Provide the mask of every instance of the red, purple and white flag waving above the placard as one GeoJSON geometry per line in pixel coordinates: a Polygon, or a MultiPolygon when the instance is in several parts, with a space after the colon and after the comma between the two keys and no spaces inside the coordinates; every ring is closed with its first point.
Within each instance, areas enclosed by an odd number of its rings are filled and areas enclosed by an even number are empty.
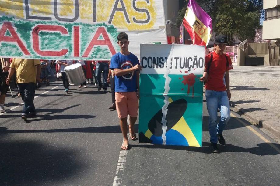
{"type": "Polygon", "coordinates": [[[195,0],[189,1],[183,24],[193,44],[208,45],[212,34],[212,19],[195,0]]]}

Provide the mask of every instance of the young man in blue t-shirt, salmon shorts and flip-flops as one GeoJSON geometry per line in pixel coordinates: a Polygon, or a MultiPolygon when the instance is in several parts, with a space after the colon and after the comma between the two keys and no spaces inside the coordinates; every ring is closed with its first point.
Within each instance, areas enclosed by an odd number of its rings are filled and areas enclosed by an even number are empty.
{"type": "Polygon", "coordinates": [[[128,150],[127,116],[129,115],[129,135],[132,140],[135,140],[134,123],[139,107],[139,70],[142,67],[137,56],[128,51],[129,41],[126,33],[121,32],[117,36],[117,43],[121,51],[112,56],[110,69],[114,70],[115,74],[116,108],[124,136],[121,150],[128,150]]]}

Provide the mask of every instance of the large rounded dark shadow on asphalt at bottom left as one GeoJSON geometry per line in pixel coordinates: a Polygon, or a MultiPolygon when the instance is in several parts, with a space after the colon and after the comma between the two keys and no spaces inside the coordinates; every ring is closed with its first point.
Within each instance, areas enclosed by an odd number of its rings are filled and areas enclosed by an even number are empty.
{"type": "Polygon", "coordinates": [[[0,185],[41,185],[65,181],[88,165],[76,158],[78,150],[38,141],[0,142],[0,185]]]}

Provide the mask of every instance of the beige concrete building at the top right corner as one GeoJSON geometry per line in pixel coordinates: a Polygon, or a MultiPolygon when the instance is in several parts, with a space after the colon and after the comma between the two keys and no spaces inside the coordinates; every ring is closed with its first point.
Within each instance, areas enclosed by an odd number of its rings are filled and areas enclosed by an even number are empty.
{"type": "Polygon", "coordinates": [[[263,40],[277,40],[268,46],[265,56],[268,65],[280,65],[280,0],[264,0],[265,20],[263,22],[263,40]]]}

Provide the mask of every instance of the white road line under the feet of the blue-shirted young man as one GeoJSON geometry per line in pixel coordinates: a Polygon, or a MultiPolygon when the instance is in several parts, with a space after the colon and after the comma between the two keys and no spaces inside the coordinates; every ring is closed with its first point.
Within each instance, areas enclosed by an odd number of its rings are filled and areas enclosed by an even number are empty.
{"type": "MultiPolygon", "coordinates": [[[[129,133],[128,133],[128,135],[129,135],[129,133]]],[[[128,137],[128,142],[129,142],[129,137],[128,137]]],[[[123,140],[122,144],[124,144],[124,140],[123,140]]],[[[119,159],[118,159],[116,176],[114,178],[113,186],[121,185],[122,175],[124,172],[124,166],[125,166],[125,162],[126,162],[126,156],[127,156],[127,150],[121,150],[119,159]]]]}

